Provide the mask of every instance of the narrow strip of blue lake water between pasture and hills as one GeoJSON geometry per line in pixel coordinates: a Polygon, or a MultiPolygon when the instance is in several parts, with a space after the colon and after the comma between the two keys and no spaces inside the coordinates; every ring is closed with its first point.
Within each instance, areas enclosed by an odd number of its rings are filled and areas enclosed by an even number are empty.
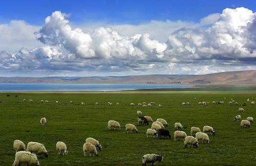
{"type": "Polygon", "coordinates": [[[0,91],[120,91],[155,88],[188,88],[183,84],[0,84],[0,91]]]}

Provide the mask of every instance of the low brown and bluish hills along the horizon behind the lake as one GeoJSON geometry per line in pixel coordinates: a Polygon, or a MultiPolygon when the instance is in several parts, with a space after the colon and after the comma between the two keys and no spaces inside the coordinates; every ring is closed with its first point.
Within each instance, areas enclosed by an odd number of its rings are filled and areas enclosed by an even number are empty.
{"type": "Polygon", "coordinates": [[[0,77],[0,83],[160,83],[160,84],[256,84],[256,70],[207,75],[140,75],[106,77],[0,77]]]}

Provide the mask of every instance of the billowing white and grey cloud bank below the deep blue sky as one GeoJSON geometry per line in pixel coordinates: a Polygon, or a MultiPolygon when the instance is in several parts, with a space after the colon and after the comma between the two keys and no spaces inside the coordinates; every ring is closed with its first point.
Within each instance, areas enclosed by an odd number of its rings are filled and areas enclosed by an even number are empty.
{"type": "Polygon", "coordinates": [[[1,51],[2,74],[207,74],[256,69],[256,13],[243,7],[224,9],[221,14],[210,14],[198,23],[151,21],[139,26],[101,27],[91,32],[73,28],[68,15],[55,11],[41,28],[21,21],[0,25],[0,30],[0,36],[5,33],[1,41],[18,40],[20,36],[40,41],[34,49],[25,49],[25,45],[15,53],[1,51]],[[4,32],[8,26],[19,29],[17,38],[4,32]],[[27,27],[33,34],[26,33],[27,27]],[[159,34],[161,40],[152,37],[154,28],[157,33],[153,36],[159,34]],[[166,29],[172,33],[167,35],[166,29]],[[132,34],[139,30],[147,33],[132,34]]]}

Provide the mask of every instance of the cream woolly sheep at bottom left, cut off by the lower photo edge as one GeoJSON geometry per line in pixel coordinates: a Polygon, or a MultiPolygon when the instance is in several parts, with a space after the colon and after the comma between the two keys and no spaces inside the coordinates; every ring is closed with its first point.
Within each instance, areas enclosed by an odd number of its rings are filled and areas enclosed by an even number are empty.
{"type": "Polygon", "coordinates": [[[19,151],[15,154],[15,160],[12,165],[18,166],[22,163],[26,163],[27,165],[40,166],[39,161],[34,153],[19,151]]]}

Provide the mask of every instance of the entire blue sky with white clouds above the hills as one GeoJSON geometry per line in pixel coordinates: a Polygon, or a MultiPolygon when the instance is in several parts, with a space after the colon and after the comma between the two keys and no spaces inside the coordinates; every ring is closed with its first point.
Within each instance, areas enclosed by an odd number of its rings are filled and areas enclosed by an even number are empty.
{"type": "Polygon", "coordinates": [[[0,77],[256,69],[255,1],[3,1],[0,77]]]}

